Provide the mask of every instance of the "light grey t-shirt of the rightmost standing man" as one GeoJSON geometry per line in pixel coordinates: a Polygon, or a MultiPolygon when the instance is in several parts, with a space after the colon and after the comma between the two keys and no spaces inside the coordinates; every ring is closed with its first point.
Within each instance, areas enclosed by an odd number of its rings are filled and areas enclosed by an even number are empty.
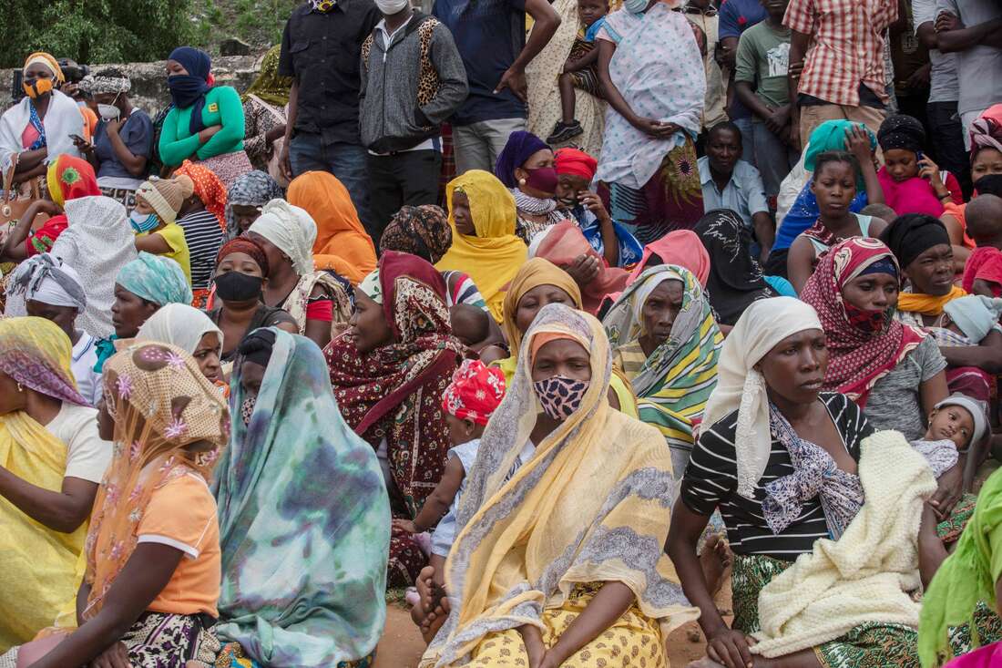
{"type": "MultiPolygon", "coordinates": [[[[997,0],[937,0],[936,13],[949,12],[972,27],[1002,17],[997,0]]],[[[919,24],[918,19],[915,21],[919,24]]],[[[1002,99],[1002,49],[979,44],[957,53],[960,113],[982,111],[1002,99]]]]}

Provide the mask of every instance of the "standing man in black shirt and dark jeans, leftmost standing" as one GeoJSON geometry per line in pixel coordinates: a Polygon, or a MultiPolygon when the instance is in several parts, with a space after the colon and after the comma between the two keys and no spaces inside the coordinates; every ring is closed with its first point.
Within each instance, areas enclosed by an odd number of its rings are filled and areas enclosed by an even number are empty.
{"type": "Polygon", "coordinates": [[[292,180],[329,172],[369,221],[366,149],[359,137],[359,55],[383,15],[373,0],[310,0],[282,35],[279,75],[293,77],[282,165],[292,180]]]}

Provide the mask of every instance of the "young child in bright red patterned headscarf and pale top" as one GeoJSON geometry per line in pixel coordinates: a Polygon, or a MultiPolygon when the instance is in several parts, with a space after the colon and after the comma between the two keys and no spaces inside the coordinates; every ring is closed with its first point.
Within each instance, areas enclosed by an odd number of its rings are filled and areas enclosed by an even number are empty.
{"type": "Polygon", "coordinates": [[[463,361],[442,396],[442,408],[452,442],[445,473],[425,499],[417,518],[413,521],[393,521],[394,528],[411,534],[434,530],[430,564],[435,568],[435,583],[439,587],[444,582],[445,558],[456,538],[456,509],[466,473],[477,458],[480,436],[491,414],[504,398],[504,372],[501,369],[486,367],[480,360],[463,361]]]}

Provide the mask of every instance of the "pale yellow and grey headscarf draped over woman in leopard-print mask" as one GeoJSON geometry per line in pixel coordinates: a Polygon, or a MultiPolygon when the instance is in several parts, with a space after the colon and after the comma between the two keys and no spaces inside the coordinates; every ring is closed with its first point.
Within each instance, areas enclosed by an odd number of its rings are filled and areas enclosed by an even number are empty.
{"type": "Polygon", "coordinates": [[[461,664],[488,631],[542,629],[541,611],[561,606],[575,583],[621,582],[665,635],[698,616],[660,550],[675,496],[671,455],[657,429],[609,406],[611,377],[595,318],[559,304],[539,312],[467,476],[445,568],[452,633],[435,639],[422,668],[461,664]],[[521,449],[512,443],[528,440],[539,412],[529,349],[548,333],[589,352],[591,381],[580,408],[506,479],[521,449]]]}

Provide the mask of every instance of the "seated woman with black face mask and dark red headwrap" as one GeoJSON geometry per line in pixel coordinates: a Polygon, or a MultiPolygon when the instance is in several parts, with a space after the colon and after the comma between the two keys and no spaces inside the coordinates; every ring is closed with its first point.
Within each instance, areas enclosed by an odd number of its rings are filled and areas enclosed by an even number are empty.
{"type": "Polygon", "coordinates": [[[219,359],[226,371],[236,359],[240,341],[256,329],[277,327],[291,334],[300,333],[295,318],[261,301],[270,269],[265,250],[249,237],[226,242],[215,257],[212,283],[217,306],[208,317],[221,332],[219,359]]]}

